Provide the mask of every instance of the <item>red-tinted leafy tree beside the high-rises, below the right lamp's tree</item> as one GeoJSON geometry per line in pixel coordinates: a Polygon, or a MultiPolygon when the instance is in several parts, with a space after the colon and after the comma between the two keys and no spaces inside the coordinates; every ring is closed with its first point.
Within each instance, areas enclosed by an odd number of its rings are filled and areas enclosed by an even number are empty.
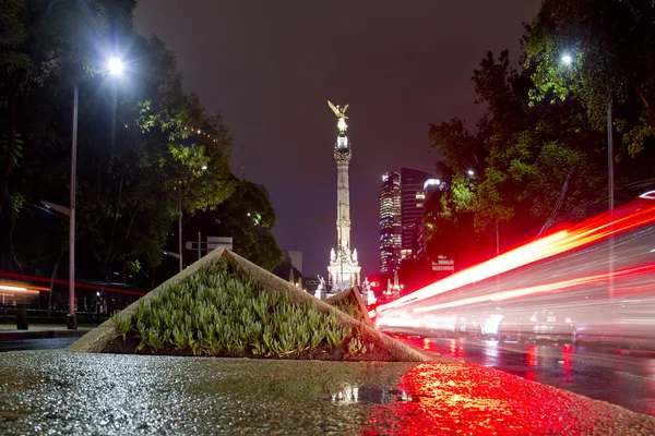
{"type": "Polygon", "coordinates": [[[497,228],[508,246],[600,201],[595,162],[603,137],[587,133],[575,101],[531,101],[531,77],[532,70],[511,66],[508,51],[488,53],[473,75],[476,102],[487,107],[477,132],[457,119],[431,126],[431,146],[443,156],[443,189],[424,218],[432,258],[465,266],[496,253],[497,228]]]}

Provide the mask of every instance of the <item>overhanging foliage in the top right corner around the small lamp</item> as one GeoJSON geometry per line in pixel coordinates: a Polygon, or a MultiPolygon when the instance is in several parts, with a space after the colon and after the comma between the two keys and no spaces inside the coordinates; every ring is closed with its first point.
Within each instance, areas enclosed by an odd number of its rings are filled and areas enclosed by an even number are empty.
{"type": "Polygon", "coordinates": [[[527,27],[532,101],[577,99],[604,130],[608,104],[631,155],[655,132],[655,3],[648,0],[547,0],[527,27]],[[562,61],[570,57],[570,65],[562,61]]]}

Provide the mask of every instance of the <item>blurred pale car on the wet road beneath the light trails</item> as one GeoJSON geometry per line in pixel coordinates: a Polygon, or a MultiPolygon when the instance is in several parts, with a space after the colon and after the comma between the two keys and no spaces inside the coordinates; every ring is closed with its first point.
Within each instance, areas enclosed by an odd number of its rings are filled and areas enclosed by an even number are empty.
{"type": "Polygon", "coordinates": [[[505,315],[498,325],[498,341],[511,339],[519,343],[538,340],[575,343],[577,332],[571,318],[543,310],[505,315]]]}

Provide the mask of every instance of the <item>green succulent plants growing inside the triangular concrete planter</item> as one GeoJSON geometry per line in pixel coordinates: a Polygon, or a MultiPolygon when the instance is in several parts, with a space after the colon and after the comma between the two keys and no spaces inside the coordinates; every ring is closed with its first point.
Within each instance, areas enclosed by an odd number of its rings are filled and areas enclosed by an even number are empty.
{"type": "Polygon", "coordinates": [[[166,349],[194,355],[252,353],[287,358],[347,343],[352,355],[372,351],[359,328],[342,326],[336,310],[320,312],[309,302],[291,303],[291,294],[266,291],[233,272],[224,259],[164,290],[131,317],[112,316],[122,335],[139,340],[136,351],[166,349]],[[348,341],[348,342],[346,342],[348,341]]]}

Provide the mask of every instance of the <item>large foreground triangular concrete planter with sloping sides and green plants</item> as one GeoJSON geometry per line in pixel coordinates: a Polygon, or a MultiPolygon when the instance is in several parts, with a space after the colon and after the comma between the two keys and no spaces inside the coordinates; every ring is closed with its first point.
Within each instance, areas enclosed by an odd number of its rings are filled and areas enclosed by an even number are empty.
{"type": "MultiPolygon", "coordinates": [[[[355,290],[357,291],[357,290],[355,290]]],[[[359,292],[336,310],[226,249],[217,249],[69,347],[78,352],[332,361],[427,362],[376,330],[359,292]]]]}

